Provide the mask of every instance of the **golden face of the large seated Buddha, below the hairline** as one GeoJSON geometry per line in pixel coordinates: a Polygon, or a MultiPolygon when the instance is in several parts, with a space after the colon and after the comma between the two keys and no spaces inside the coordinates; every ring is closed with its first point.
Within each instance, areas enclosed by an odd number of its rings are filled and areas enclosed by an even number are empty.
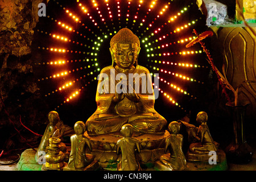
{"type": "Polygon", "coordinates": [[[113,48],[110,48],[110,53],[112,54],[112,59],[114,59],[115,64],[117,64],[119,68],[129,69],[133,67],[137,60],[140,49],[141,48],[138,47],[137,43],[115,43],[113,48]]]}

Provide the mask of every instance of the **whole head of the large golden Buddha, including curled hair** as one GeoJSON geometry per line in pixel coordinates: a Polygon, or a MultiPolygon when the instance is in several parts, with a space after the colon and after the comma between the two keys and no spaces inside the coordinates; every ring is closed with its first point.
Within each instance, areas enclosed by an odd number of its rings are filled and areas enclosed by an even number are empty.
{"type": "Polygon", "coordinates": [[[130,69],[138,65],[138,55],[141,50],[139,38],[128,28],[122,28],[110,40],[112,65],[130,69]]]}

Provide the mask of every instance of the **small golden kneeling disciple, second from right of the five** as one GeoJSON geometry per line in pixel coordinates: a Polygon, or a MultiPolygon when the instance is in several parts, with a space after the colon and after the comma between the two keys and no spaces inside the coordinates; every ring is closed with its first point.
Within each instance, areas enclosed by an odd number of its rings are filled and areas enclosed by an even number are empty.
{"type": "Polygon", "coordinates": [[[166,138],[164,152],[169,150],[170,154],[160,156],[160,162],[170,171],[183,170],[187,162],[182,151],[183,135],[179,134],[180,125],[178,122],[172,121],[168,125],[168,129],[171,135],[166,138]]]}

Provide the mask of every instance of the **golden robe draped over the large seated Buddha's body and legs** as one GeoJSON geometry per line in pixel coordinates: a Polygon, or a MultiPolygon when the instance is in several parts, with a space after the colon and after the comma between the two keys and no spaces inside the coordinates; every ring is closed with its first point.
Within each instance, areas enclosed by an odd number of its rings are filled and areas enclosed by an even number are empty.
{"type": "MultiPolygon", "coordinates": [[[[118,72],[112,65],[101,71],[96,93],[97,110],[86,121],[88,134],[119,131],[126,123],[132,125],[134,131],[141,133],[163,132],[167,121],[154,109],[155,96],[151,77],[150,79],[147,77],[147,74],[150,74],[148,69],[137,65],[133,71],[123,72],[127,80],[129,80],[129,73],[138,74],[133,80],[133,88],[140,98],[138,102],[130,101],[127,97],[120,102],[114,102],[113,98],[117,91],[115,87],[120,87],[120,80],[127,83],[125,78],[117,78],[118,73],[122,72],[118,72]],[[143,74],[147,77],[146,81],[140,77],[143,74]],[[116,78],[117,80],[115,80],[116,78]],[[137,89],[138,85],[139,90],[137,89]]],[[[127,89],[127,93],[130,93],[130,88],[127,89]]]]}

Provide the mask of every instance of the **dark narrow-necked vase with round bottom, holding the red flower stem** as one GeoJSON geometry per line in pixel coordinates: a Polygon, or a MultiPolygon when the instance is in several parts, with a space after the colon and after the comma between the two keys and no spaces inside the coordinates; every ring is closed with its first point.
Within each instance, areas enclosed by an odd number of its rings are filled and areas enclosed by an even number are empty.
{"type": "Polygon", "coordinates": [[[253,150],[245,139],[245,111],[248,106],[229,106],[233,119],[234,137],[226,147],[226,159],[231,163],[249,163],[253,156],[253,150]]]}

